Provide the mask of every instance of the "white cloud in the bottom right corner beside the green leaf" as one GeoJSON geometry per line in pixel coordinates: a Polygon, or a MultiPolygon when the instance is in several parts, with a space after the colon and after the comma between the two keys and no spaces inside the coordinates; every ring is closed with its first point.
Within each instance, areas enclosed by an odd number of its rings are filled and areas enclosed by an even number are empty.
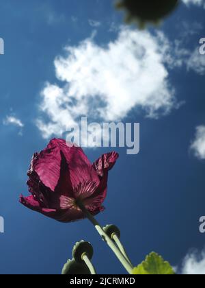
{"type": "Polygon", "coordinates": [[[182,275],[205,275],[205,251],[189,253],[182,263],[182,275]]]}

